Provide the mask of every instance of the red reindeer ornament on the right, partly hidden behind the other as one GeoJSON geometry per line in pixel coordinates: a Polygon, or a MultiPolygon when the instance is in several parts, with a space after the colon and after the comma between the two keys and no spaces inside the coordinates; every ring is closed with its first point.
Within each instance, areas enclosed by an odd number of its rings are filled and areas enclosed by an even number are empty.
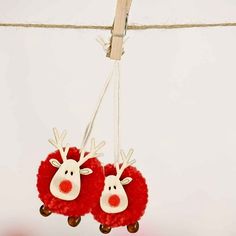
{"type": "Polygon", "coordinates": [[[127,155],[121,151],[122,164],[105,166],[105,186],[97,205],[92,209],[94,218],[101,223],[102,233],[112,228],[127,226],[131,233],[139,229],[138,221],[144,214],[148,189],[141,173],[132,165],[133,150],[127,155]]]}

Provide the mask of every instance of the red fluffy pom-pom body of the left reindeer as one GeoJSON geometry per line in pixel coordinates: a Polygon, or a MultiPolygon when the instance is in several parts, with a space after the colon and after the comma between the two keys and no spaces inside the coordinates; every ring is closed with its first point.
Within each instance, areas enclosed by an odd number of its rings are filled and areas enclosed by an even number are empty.
{"type": "MultiPolygon", "coordinates": [[[[81,168],[90,168],[93,173],[90,175],[81,175],[81,189],[79,196],[73,201],[64,201],[54,197],[50,192],[50,183],[57,172],[57,168],[53,167],[49,162],[50,159],[56,159],[62,163],[59,151],[48,155],[45,161],[41,162],[37,175],[37,188],[39,198],[51,212],[63,214],[65,216],[83,216],[91,211],[96,202],[99,201],[101,192],[104,188],[104,173],[101,163],[92,158],[85,162],[81,168]]],[[[80,159],[79,149],[70,148],[67,159],[80,159]]],[[[69,190],[69,184],[63,184],[62,189],[69,190]]]]}

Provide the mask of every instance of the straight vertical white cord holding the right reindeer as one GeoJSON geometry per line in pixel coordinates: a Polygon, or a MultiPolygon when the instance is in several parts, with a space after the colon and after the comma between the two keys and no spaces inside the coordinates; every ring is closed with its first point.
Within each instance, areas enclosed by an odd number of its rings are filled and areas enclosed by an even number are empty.
{"type": "Polygon", "coordinates": [[[120,64],[116,62],[116,77],[114,82],[114,163],[120,159],[120,64]]]}

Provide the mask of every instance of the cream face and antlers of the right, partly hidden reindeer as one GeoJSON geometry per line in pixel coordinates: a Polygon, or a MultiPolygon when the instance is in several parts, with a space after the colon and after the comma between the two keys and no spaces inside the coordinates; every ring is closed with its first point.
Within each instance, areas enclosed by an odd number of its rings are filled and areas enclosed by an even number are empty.
{"type": "Polygon", "coordinates": [[[121,168],[119,167],[119,163],[116,163],[116,176],[109,175],[105,178],[105,187],[100,198],[100,206],[106,213],[119,213],[128,207],[128,197],[123,186],[129,184],[132,178],[126,177],[120,180],[120,177],[128,166],[135,163],[135,160],[130,161],[132,154],[132,149],[127,156],[121,151],[123,159],[121,168]]]}

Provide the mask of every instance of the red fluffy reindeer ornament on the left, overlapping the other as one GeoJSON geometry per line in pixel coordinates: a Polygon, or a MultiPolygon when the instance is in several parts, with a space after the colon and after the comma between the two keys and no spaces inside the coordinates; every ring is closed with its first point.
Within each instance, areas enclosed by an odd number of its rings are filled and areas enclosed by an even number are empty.
{"type": "Polygon", "coordinates": [[[43,216],[52,212],[68,216],[68,223],[77,226],[81,216],[91,211],[99,200],[104,187],[104,173],[96,157],[105,145],[91,142],[89,153],[76,147],[63,147],[66,131],[62,134],[53,129],[55,139],[49,142],[57,149],[48,155],[38,171],[37,187],[39,198],[44,205],[40,208],[43,216]]]}

